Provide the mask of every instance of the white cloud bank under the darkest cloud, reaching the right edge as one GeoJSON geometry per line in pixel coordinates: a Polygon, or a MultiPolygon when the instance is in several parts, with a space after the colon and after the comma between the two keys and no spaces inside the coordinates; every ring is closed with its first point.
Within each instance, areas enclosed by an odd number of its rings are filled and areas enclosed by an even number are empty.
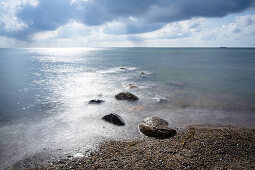
{"type": "Polygon", "coordinates": [[[167,24],[160,30],[138,34],[144,46],[173,47],[254,47],[255,14],[237,16],[229,24],[210,27],[210,19],[167,24]]]}

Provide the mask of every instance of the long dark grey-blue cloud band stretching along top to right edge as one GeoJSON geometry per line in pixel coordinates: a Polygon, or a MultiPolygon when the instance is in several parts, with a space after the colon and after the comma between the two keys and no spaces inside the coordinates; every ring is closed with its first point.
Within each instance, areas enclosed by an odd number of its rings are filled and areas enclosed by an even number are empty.
{"type": "Polygon", "coordinates": [[[91,0],[82,6],[87,25],[134,16],[144,23],[169,23],[192,17],[223,17],[254,6],[254,0],[91,0]]]}

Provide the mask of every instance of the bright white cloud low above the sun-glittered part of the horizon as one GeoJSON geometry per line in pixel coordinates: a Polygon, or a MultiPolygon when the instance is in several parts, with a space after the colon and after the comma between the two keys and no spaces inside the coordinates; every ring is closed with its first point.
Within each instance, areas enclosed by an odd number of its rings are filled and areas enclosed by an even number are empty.
{"type": "Polygon", "coordinates": [[[111,46],[119,45],[126,35],[110,35],[104,32],[103,26],[88,27],[77,21],[70,21],[55,31],[35,33],[32,36],[35,46],[111,46]]]}

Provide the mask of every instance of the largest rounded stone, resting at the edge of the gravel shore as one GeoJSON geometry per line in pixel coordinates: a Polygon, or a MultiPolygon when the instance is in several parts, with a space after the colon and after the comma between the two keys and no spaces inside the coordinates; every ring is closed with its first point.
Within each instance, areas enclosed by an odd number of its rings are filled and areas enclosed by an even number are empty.
{"type": "Polygon", "coordinates": [[[146,136],[156,138],[168,138],[176,134],[176,130],[170,128],[167,121],[156,116],[143,119],[139,130],[146,136]]]}

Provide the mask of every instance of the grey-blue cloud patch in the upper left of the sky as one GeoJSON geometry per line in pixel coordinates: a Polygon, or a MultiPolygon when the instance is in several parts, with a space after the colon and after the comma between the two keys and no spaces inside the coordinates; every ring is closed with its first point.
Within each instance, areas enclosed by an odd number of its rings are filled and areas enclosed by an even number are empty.
{"type": "Polygon", "coordinates": [[[27,27],[23,30],[5,31],[0,28],[0,35],[29,40],[29,35],[38,31],[55,30],[74,18],[77,8],[70,0],[40,0],[34,6],[25,6],[17,11],[17,18],[27,27]]]}

